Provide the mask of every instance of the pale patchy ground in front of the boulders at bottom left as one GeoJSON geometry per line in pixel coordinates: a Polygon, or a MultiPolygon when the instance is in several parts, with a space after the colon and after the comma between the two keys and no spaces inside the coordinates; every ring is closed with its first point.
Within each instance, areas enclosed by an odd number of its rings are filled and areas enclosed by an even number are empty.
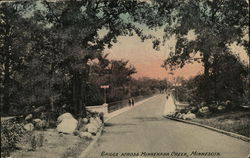
{"type": "MultiPolygon", "coordinates": [[[[12,158],[68,158],[77,157],[91,142],[74,135],[59,134],[55,129],[34,131],[18,144],[19,150],[11,154],[12,158]],[[32,136],[43,134],[43,145],[32,149],[32,136]]],[[[38,137],[39,138],[39,137],[38,137]]],[[[33,142],[34,143],[34,142],[33,142]]],[[[36,142],[39,143],[39,142],[36,142]]]]}

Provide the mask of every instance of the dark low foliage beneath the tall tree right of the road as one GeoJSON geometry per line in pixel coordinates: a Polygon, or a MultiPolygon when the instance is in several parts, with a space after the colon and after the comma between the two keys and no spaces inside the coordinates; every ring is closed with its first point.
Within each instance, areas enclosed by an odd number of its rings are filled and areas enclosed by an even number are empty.
{"type": "Polygon", "coordinates": [[[208,80],[204,74],[188,80],[177,78],[174,94],[192,106],[225,106],[227,110],[249,105],[248,67],[233,54],[221,55],[211,66],[208,80]]]}

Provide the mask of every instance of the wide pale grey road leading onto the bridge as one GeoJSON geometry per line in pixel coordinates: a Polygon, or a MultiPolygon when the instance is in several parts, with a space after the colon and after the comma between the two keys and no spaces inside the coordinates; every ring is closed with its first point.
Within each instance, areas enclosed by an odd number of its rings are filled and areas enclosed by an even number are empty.
{"type": "Polygon", "coordinates": [[[249,154],[247,142],[163,118],[168,106],[171,101],[159,95],[112,118],[87,158],[246,158],[249,154]],[[213,156],[198,156],[201,152],[213,156]]]}

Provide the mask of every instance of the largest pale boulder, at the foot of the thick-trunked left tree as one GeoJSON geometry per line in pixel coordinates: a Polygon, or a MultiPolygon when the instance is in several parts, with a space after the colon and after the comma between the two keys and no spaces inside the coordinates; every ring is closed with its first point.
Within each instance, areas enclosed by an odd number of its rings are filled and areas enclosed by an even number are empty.
{"type": "Polygon", "coordinates": [[[72,134],[77,128],[78,121],[74,118],[64,118],[61,123],[57,125],[57,131],[67,134],[72,134]]]}

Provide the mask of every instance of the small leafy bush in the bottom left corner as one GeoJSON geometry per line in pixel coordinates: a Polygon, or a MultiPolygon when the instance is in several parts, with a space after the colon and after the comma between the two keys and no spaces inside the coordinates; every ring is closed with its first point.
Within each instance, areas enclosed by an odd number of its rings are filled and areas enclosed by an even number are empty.
{"type": "Polygon", "coordinates": [[[23,124],[12,120],[1,122],[1,157],[9,156],[23,135],[23,124]]]}

